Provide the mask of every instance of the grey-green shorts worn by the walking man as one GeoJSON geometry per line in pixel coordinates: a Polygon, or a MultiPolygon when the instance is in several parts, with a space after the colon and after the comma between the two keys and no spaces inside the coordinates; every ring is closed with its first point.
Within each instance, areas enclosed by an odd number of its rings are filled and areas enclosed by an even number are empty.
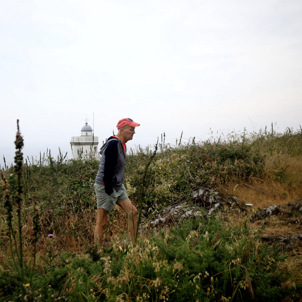
{"type": "Polygon", "coordinates": [[[108,195],[105,192],[105,185],[95,183],[94,187],[96,199],[98,201],[98,209],[105,209],[106,211],[110,212],[113,210],[116,202],[128,199],[126,188],[124,185],[122,185],[119,191],[115,191],[115,189],[113,189],[111,195],[108,195]]]}

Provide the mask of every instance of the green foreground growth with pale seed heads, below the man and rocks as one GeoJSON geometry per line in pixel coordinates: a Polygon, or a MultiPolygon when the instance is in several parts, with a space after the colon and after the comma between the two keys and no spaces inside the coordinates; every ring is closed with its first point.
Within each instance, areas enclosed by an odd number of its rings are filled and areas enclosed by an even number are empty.
{"type": "MultiPolygon", "coordinates": [[[[113,240],[103,257],[65,252],[52,266],[39,264],[42,273],[28,290],[42,288],[37,294],[46,301],[55,292],[68,294],[70,301],[276,301],[293,294],[293,288],[282,288],[288,275],[279,261],[285,256],[261,244],[257,234],[240,230],[240,225],[230,227],[219,217],[206,223],[198,218],[123,251],[113,240]]],[[[10,282],[18,284],[17,276],[10,276],[10,282]]]]}

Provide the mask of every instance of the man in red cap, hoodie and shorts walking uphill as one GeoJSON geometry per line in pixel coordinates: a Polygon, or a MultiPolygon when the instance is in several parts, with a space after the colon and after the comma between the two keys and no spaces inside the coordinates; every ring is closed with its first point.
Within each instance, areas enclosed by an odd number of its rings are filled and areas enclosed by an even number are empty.
{"type": "Polygon", "coordinates": [[[95,194],[97,197],[97,218],[95,226],[95,243],[99,252],[107,223],[107,214],[115,204],[128,215],[128,230],[132,241],[137,229],[137,209],[127,196],[124,182],[126,161],[126,143],[133,138],[135,127],[139,126],[132,119],[120,119],[117,135],[109,137],[101,147],[101,161],[95,178],[95,194]]]}

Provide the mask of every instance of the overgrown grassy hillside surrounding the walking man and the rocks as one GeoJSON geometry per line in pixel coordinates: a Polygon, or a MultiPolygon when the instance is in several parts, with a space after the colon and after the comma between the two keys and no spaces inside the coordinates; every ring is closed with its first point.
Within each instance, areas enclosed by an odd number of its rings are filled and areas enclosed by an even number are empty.
{"type": "MultiPolygon", "coordinates": [[[[302,196],[300,130],[244,130],[175,145],[164,138],[158,146],[128,152],[127,188],[142,223],[201,187],[237,196],[252,203],[253,211],[295,203],[302,196]]],[[[11,228],[21,234],[21,241],[10,248],[2,207],[0,300],[299,301],[300,245],[282,250],[259,239],[299,232],[299,225],[282,225],[283,217],[252,222],[251,231],[247,217],[199,217],[138,233],[133,246],[123,244],[128,240],[127,217],[115,207],[103,254],[97,254],[93,184],[99,160],[65,157],[60,153],[53,158],[47,150],[39,160],[28,158],[19,165],[21,174],[14,167],[1,168],[2,179],[10,185],[11,228]],[[21,247],[22,264],[16,264],[18,257],[12,255],[21,247]]]]}

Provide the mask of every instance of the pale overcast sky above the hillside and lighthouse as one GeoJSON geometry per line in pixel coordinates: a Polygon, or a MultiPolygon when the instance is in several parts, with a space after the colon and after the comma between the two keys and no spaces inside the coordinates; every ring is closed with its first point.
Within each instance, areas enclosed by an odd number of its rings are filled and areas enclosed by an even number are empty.
{"type": "Polygon", "coordinates": [[[301,0],[0,4],[0,166],[17,119],[30,157],[70,158],[93,113],[100,142],[121,118],[141,123],[128,147],[300,129],[301,0]]]}

